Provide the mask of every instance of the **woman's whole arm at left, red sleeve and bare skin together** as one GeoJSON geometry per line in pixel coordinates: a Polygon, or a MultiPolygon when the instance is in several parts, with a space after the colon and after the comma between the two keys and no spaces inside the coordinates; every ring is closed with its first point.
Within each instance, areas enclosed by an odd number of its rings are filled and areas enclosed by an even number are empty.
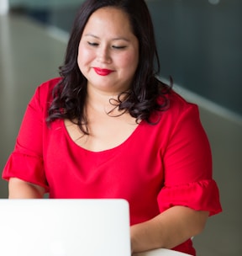
{"type": "Polygon", "coordinates": [[[9,181],[8,198],[41,198],[44,189],[34,184],[47,188],[43,135],[46,105],[50,102],[48,97],[51,92],[48,84],[39,86],[29,101],[14,150],[3,168],[2,177],[9,181]]]}

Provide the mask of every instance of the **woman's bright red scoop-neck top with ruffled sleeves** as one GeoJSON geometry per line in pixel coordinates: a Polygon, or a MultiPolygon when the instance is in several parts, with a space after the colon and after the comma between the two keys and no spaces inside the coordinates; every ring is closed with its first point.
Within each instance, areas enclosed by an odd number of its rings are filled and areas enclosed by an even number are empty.
{"type": "MultiPolygon", "coordinates": [[[[50,198],[126,199],[131,225],[172,205],[210,211],[210,215],[221,211],[197,105],[172,91],[167,95],[170,107],[160,112],[156,125],[142,121],[118,147],[91,152],[71,140],[63,120],[46,125],[51,92],[59,81],[43,83],[34,93],[3,179],[39,184],[50,198]]],[[[152,118],[157,116],[154,113],[152,118]]],[[[195,254],[191,240],[176,249],[195,254]]]]}

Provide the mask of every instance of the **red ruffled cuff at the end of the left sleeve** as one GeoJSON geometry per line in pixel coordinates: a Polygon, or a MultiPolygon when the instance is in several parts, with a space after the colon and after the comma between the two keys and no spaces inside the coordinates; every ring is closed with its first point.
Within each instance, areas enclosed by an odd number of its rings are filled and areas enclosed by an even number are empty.
{"type": "Polygon", "coordinates": [[[23,179],[26,182],[37,184],[49,191],[45,178],[44,163],[42,158],[13,152],[3,169],[2,178],[23,179]]]}

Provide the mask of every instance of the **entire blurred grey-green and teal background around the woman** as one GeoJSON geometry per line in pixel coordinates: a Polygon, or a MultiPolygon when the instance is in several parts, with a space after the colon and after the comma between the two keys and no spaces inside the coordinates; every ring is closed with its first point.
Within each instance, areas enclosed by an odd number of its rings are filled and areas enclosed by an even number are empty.
{"type": "MultiPolygon", "coordinates": [[[[35,88],[57,77],[80,0],[0,0],[0,169],[35,88]]],[[[224,212],[194,238],[197,256],[242,255],[242,1],[147,0],[160,79],[198,104],[224,212]]],[[[8,184],[0,180],[0,198],[8,184]]],[[[1,209],[0,209],[1,211],[1,209]]]]}

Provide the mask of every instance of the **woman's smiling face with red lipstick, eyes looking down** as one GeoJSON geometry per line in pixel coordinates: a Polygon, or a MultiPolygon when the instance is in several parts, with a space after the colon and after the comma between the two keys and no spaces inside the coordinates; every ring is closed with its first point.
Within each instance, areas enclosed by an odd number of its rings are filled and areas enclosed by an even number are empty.
{"type": "Polygon", "coordinates": [[[112,94],[129,89],[139,62],[139,41],[128,15],[118,8],[92,13],[80,40],[77,62],[87,87],[112,94]]]}

